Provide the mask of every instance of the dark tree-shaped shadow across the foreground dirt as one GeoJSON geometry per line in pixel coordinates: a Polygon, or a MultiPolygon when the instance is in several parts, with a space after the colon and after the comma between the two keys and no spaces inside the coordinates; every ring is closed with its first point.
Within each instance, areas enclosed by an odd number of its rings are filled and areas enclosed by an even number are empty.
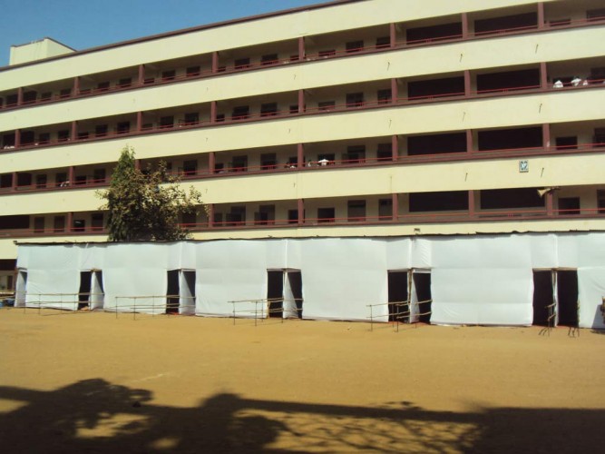
{"type": "Polygon", "coordinates": [[[582,452],[598,449],[605,410],[428,411],[248,400],[154,405],[149,390],[96,379],[53,391],[0,387],[9,452],[582,452]]]}

